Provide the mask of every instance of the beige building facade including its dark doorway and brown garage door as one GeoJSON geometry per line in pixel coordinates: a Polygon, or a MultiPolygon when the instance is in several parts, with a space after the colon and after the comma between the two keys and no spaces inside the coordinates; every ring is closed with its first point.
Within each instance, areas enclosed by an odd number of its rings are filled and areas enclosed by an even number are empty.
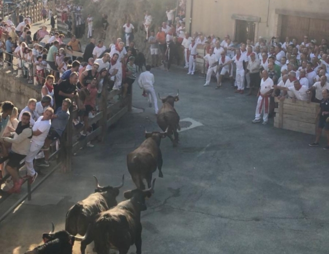
{"type": "Polygon", "coordinates": [[[238,42],[289,36],[301,43],[304,35],[329,39],[328,13],[329,0],[187,0],[186,25],[238,42]]]}

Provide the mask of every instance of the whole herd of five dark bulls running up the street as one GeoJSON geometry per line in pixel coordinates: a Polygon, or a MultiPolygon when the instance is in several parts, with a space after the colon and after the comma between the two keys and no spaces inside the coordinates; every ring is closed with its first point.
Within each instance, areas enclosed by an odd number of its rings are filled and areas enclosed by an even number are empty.
{"type": "Polygon", "coordinates": [[[152,174],[158,169],[159,177],[163,178],[161,139],[169,137],[174,147],[178,144],[179,115],[174,108],[178,96],[179,91],[176,96],[161,98],[159,95],[163,106],[158,112],[157,123],[164,132],[145,131],[145,141],[127,155],[128,171],[137,189],[124,192],[126,200],[117,203],[116,197],[124,184],[124,175],[121,184],[116,187],[102,187],[94,176],[95,192],[69,209],[65,230],[54,232],[53,224],[51,232],[42,235],[44,244],[26,254],[72,254],[75,241],[81,242],[82,254],[91,242],[94,242],[97,254],[109,254],[110,250],[127,254],[134,244],[136,253],[141,254],[140,213],[147,209],[145,199],[154,193],[155,178],[152,180],[152,174]],[[143,179],[146,180],[147,189],[143,179]],[[77,234],[83,237],[77,237],[77,234]]]}

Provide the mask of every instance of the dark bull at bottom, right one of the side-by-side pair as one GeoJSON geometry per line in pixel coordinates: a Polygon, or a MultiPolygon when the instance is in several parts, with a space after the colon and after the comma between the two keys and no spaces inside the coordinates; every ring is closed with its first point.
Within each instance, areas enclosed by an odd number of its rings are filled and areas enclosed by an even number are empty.
{"type": "Polygon", "coordinates": [[[136,253],[141,254],[140,212],[147,209],[145,198],[154,193],[154,182],[147,190],[130,190],[124,193],[127,199],[112,209],[98,214],[90,224],[81,242],[81,253],[94,241],[97,254],[108,254],[110,249],[127,254],[131,245],[136,245],[136,253]]]}

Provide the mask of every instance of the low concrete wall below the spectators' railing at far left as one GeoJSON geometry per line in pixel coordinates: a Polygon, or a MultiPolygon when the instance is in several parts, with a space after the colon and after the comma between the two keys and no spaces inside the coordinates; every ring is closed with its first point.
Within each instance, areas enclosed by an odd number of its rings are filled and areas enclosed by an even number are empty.
{"type": "Polygon", "coordinates": [[[21,110],[26,107],[27,101],[31,98],[41,100],[41,87],[27,84],[26,78],[18,78],[10,72],[0,70],[0,102],[13,102],[21,110]]]}

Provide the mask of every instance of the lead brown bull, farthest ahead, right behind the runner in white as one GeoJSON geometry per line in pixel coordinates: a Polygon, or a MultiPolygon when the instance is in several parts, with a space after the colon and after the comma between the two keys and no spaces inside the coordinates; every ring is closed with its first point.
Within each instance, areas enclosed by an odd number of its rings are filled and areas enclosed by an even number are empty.
{"type": "Polygon", "coordinates": [[[181,127],[179,126],[179,115],[174,108],[174,103],[179,101],[179,90],[176,96],[167,96],[166,98],[161,98],[159,94],[159,99],[162,101],[163,105],[160,108],[157,115],[157,123],[159,127],[164,131],[168,128],[167,136],[170,138],[174,147],[178,145],[178,132],[181,127]],[[171,135],[174,135],[174,139],[171,135]]]}

